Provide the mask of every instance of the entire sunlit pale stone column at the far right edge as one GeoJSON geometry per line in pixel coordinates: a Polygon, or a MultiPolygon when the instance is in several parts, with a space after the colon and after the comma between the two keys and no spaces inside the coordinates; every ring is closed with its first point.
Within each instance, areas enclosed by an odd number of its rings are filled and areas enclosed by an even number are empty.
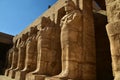
{"type": "Polygon", "coordinates": [[[106,9],[106,29],[110,40],[113,76],[114,80],[120,80],[120,0],[106,0],[106,9]]]}

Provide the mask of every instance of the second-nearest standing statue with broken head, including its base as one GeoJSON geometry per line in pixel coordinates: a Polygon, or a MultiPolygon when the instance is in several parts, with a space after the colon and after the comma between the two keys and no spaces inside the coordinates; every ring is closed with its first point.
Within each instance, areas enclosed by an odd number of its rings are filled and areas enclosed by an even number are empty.
{"type": "Polygon", "coordinates": [[[27,80],[44,80],[60,72],[60,40],[59,30],[55,23],[47,17],[41,18],[37,34],[37,68],[27,75],[27,80]],[[58,32],[59,31],[59,32],[58,32]],[[58,39],[56,39],[58,38],[58,39]]]}

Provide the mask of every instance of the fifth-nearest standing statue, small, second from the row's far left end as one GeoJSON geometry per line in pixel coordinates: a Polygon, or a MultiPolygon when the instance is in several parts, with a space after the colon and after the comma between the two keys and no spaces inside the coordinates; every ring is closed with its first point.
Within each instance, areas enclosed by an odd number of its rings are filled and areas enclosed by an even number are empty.
{"type": "Polygon", "coordinates": [[[20,43],[20,39],[15,40],[13,43],[13,47],[12,47],[13,51],[11,55],[12,63],[11,63],[11,67],[5,71],[6,76],[11,76],[10,71],[12,71],[13,69],[17,67],[19,43],[20,43]]]}

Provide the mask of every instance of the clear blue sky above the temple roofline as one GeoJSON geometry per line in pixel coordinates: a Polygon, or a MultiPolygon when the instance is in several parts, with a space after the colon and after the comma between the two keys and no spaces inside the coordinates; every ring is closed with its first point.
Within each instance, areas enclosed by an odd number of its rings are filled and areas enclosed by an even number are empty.
{"type": "Polygon", "coordinates": [[[19,34],[57,0],[0,0],[0,32],[19,34]]]}

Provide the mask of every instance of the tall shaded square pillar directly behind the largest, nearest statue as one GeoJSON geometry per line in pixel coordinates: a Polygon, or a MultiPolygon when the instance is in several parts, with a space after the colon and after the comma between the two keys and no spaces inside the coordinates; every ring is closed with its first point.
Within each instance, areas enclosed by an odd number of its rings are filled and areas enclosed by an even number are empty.
{"type": "Polygon", "coordinates": [[[83,0],[83,55],[82,80],[96,80],[95,32],[93,0],[83,0]]]}

